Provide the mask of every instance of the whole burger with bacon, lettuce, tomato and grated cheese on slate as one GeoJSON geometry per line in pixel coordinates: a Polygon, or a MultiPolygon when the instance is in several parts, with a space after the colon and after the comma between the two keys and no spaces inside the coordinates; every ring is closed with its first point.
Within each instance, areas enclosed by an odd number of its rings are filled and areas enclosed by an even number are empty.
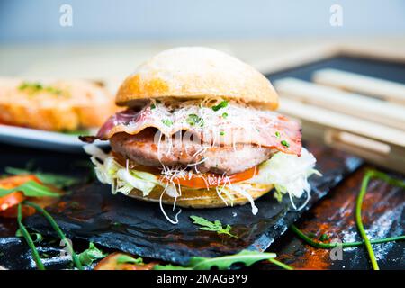
{"type": "Polygon", "coordinates": [[[310,199],[316,160],[302,148],[300,124],[274,110],[278,95],[255,68],[215,49],[182,47],[140,65],[119,88],[97,135],[106,154],[86,145],[98,179],[142,201],[212,208],[274,193],[310,199]]]}

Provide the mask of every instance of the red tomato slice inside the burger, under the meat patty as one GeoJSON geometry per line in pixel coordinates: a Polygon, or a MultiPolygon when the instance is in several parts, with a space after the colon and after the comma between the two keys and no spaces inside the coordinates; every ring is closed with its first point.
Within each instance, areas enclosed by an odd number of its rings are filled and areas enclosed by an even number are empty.
{"type": "MultiPolygon", "coordinates": [[[[232,175],[218,175],[213,173],[203,173],[203,174],[190,174],[186,175],[185,177],[178,177],[173,179],[175,184],[181,184],[185,187],[191,188],[212,188],[218,187],[223,184],[227,183],[237,183],[241,181],[245,181],[247,179],[252,178],[254,175],[257,174],[257,166],[254,166],[246,171],[235,173],[232,175]]],[[[161,177],[160,180],[162,182],[169,182],[166,177],[161,177]]]]}

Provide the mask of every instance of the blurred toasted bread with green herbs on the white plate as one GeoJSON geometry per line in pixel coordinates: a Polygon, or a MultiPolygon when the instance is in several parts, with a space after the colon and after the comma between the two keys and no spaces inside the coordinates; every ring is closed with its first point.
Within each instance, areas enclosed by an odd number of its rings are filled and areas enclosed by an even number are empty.
{"type": "Polygon", "coordinates": [[[116,112],[114,97],[85,80],[0,77],[0,123],[49,131],[99,127],[116,112]]]}

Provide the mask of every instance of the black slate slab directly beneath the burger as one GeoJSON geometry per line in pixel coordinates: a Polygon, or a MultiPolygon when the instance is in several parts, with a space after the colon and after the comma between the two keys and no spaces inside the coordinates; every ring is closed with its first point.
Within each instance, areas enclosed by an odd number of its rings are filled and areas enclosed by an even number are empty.
{"type": "MultiPolygon", "coordinates": [[[[109,186],[98,183],[77,189],[49,211],[73,242],[75,238],[86,239],[103,247],[178,264],[185,264],[193,256],[217,257],[246,248],[266,250],[303,211],[362,163],[356,157],[330,148],[309,148],[317,157],[323,176],[311,177],[311,201],[302,211],[294,211],[288,197],[280,203],[269,193],[256,202],[259,209],[256,216],[252,215],[248,204],[220,209],[184,209],[179,215],[179,224],[173,225],[156,203],[112,195],[109,186]],[[238,239],[199,230],[189,219],[191,215],[231,225],[238,239]]],[[[297,207],[303,201],[297,201],[297,207]]],[[[170,206],[165,207],[173,217],[175,212],[170,206]]],[[[42,234],[53,235],[46,220],[38,214],[28,218],[26,224],[42,234]]]]}

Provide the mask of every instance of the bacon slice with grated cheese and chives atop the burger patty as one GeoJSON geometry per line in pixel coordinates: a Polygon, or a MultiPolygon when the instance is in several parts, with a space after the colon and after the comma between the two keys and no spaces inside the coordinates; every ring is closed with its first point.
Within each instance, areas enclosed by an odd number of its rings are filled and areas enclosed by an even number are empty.
{"type": "Polygon", "coordinates": [[[156,128],[167,137],[184,130],[197,136],[203,143],[225,147],[254,144],[295,155],[300,155],[302,149],[298,122],[276,112],[237,104],[229,104],[216,112],[195,105],[174,111],[164,104],[157,104],[153,108],[147,105],[139,111],[129,109],[112,115],[95,137],[81,139],[87,142],[107,140],[116,133],[136,135],[146,128],[156,128]]]}

